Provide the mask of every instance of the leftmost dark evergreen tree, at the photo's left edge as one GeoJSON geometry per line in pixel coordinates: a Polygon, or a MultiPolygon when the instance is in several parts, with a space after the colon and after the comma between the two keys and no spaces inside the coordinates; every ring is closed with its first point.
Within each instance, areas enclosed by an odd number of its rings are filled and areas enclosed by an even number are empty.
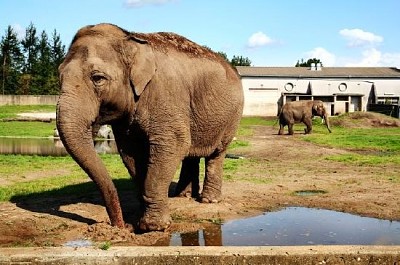
{"type": "Polygon", "coordinates": [[[1,38],[0,47],[2,94],[15,94],[24,58],[17,33],[11,26],[1,38]]]}

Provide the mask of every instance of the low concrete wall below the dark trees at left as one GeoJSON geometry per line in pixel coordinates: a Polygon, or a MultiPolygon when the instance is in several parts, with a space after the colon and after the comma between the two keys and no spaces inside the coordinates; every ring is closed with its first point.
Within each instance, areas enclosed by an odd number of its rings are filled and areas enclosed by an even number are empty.
{"type": "Polygon", "coordinates": [[[0,95],[2,105],[56,105],[58,95],[0,95]]]}

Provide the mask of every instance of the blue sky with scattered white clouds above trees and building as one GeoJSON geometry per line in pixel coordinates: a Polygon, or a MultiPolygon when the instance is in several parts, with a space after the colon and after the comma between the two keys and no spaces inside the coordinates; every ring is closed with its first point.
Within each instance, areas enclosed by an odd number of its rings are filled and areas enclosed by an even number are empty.
{"type": "Polygon", "coordinates": [[[32,22],[68,47],[82,26],[109,22],[129,31],[171,31],[253,66],[400,68],[399,0],[0,0],[0,35],[32,22]]]}

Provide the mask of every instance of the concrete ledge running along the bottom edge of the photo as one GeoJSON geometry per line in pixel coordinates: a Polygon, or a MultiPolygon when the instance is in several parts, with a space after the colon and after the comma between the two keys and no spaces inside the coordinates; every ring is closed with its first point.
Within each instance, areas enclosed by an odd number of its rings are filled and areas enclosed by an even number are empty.
{"type": "Polygon", "coordinates": [[[400,246],[0,248],[0,264],[379,264],[400,263],[400,246]]]}

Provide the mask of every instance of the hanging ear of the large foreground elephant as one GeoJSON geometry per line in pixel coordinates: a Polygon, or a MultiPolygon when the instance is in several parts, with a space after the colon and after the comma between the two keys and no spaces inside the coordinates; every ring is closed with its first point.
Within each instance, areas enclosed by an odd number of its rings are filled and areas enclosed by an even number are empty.
{"type": "Polygon", "coordinates": [[[146,40],[133,35],[129,36],[128,46],[131,46],[128,53],[129,79],[135,95],[140,96],[156,73],[155,56],[146,40]]]}

